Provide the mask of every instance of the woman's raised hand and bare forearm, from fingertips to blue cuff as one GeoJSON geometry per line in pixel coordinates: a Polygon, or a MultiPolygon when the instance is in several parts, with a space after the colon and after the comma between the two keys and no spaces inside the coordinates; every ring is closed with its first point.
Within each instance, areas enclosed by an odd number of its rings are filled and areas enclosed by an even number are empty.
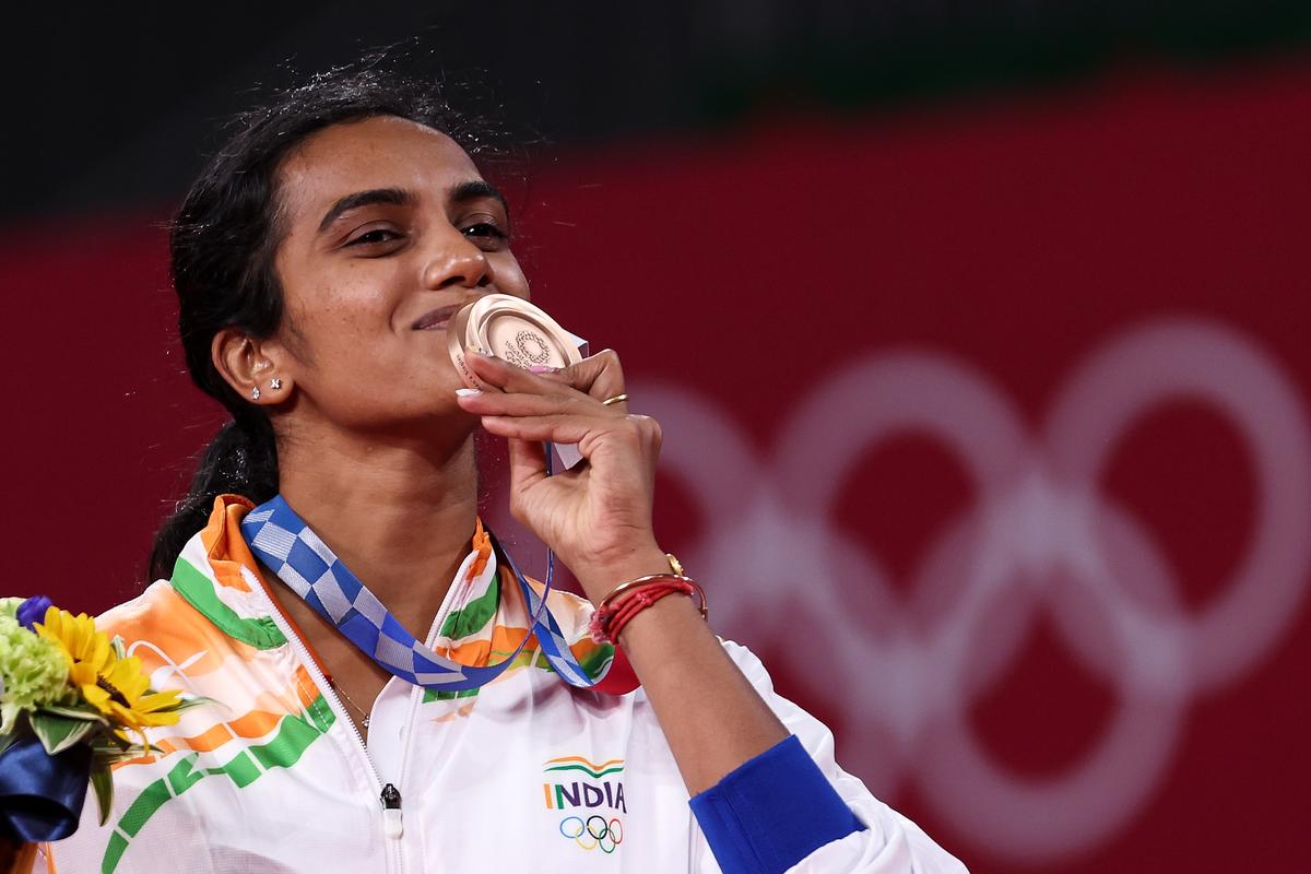
{"type": "MultiPolygon", "coordinates": [[[[501,389],[458,397],[510,440],[510,510],[560,554],[587,596],[598,601],[624,580],[667,571],[652,533],[659,426],[624,404],[602,404],[624,390],[619,356],[604,351],[540,375],[481,355],[467,360],[501,389]],[[587,461],[548,477],[541,440],[577,443],[587,461]]],[[[688,793],[788,736],[690,599],[662,599],[625,625],[623,638],[688,793]]]]}

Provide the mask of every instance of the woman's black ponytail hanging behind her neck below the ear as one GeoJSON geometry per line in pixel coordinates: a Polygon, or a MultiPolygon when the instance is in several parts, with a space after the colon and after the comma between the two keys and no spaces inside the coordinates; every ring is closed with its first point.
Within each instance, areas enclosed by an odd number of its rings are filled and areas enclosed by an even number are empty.
{"type": "Polygon", "coordinates": [[[278,451],[267,417],[254,413],[228,422],[201,453],[191,486],[155,535],[151,579],[168,579],[186,541],[205,528],[222,494],[264,503],[278,494],[278,451]]]}

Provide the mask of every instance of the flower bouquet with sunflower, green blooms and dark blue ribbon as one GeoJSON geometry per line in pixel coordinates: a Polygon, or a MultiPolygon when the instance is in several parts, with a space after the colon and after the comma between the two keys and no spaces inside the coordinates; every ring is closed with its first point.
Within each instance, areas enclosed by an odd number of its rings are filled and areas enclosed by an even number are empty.
{"type": "Polygon", "coordinates": [[[110,767],[149,753],[144,730],[203,704],[156,692],[140,659],[49,598],[0,599],[0,871],[72,835],[88,784],[105,824],[110,767]]]}

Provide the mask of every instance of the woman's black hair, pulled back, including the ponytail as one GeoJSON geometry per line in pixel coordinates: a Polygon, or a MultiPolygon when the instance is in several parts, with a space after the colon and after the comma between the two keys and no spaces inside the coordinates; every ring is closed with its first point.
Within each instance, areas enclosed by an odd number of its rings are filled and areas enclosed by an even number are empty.
{"type": "Polygon", "coordinates": [[[376,66],[376,59],[320,73],[274,92],[243,113],[235,134],[208,160],[169,229],[178,332],[191,379],[232,413],[201,453],[191,486],[155,535],[149,571],[172,575],[186,541],[205,527],[215,497],[236,493],[260,503],[278,493],[273,426],[214,367],[210,347],[224,328],[269,337],[282,321],[274,256],[282,241],[278,170],[312,134],[343,122],[396,115],[451,136],[471,155],[499,135],[488,118],[458,113],[443,89],[376,66]]]}

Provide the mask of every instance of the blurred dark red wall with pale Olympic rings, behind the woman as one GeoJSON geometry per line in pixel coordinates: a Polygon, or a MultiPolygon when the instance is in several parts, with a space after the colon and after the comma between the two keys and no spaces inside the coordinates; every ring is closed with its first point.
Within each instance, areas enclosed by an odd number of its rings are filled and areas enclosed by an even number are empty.
{"type": "MultiPolygon", "coordinates": [[[[1289,870],[1311,802],[1308,153],[1311,68],[1272,66],[789,118],[569,153],[509,187],[539,303],[617,349],[636,409],[666,422],[667,546],[709,584],[718,628],[834,726],[839,759],[881,797],[979,873],[1289,870]],[[1180,338],[1189,363],[1169,351],[1180,338]],[[1096,370],[1127,342],[1146,356],[1096,370]],[[944,401],[960,446],[914,423],[852,438],[880,405],[941,400],[916,368],[985,398],[944,401]],[[1238,400],[1180,390],[1097,430],[1087,398],[1176,370],[1238,400]],[[1248,401],[1274,411],[1253,419],[1248,401]],[[1025,435],[1017,455],[988,404],[1025,435]],[[1049,434],[1063,404],[1072,425],[1049,434]],[[1062,491],[1075,444],[1106,461],[1062,491]],[[827,494],[794,499],[821,476],[836,477],[827,494]],[[1062,545],[1074,493],[1096,519],[1083,546],[1062,545]],[[1274,493],[1287,501],[1262,511],[1274,493]],[[1011,537],[1000,582],[978,588],[987,558],[969,553],[918,590],[981,508],[1011,537]],[[1235,622],[1205,625],[1262,537],[1291,545],[1253,570],[1235,622]],[[1105,579],[1079,565],[1089,556],[1105,579]],[[944,667],[928,641],[970,598],[960,664],[944,667]],[[1134,637],[1133,616],[1155,625],[1134,637]],[[982,806],[968,774],[941,773],[960,743],[948,712],[1013,797],[982,806]],[[1117,725],[1142,738],[1138,759],[1062,795],[1117,725]]],[[[8,591],[87,611],[131,596],[220,421],[174,347],[157,218],[10,228],[0,248],[8,591]]]]}

